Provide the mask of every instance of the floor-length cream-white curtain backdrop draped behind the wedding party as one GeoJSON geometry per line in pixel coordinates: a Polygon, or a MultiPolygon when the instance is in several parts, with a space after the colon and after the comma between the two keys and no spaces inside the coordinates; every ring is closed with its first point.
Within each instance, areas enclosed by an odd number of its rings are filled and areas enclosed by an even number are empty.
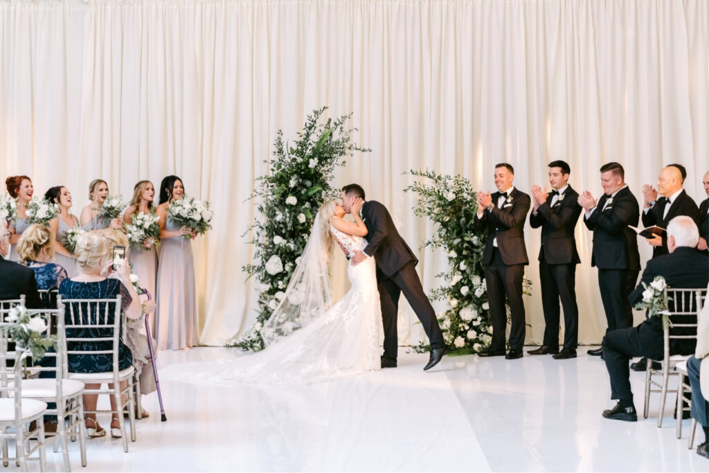
{"type": "MultiPolygon", "coordinates": [[[[38,192],[65,184],[75,213],[96,177],[130,196],[139,179],[174,173],[211,200],[214,230],[194,243],[209,345],[255,318],[240,269],[252,255],[245,199],[277,130],[293,137],[313,108],[354,112],[354,139],[373,152],[335,185],[362,184],[418,247],[432,228],[402,192],[409,169],[489,190],[506,161],[528,192],[561,158],[571,184],[598,196],[598,168],[619,161],[642,201],[642,184],[680,162],[703,199],[708,90],[705,0],[0,0],[0,176],[29,174],[38,192]]],[[[582,223],[576,232],[579,340],[598,343],[591,240],[582,223]]],[[[527,341],[539,343],[539,231],[527,228],[527,242],[527,341]]],[[[431,289],[445,258],[419,255],[431,289]]],[[[339,294],[344,269],[333,268],[339,294]]],[[[402,308],[401,339],[416,341],[402,308]]]]}

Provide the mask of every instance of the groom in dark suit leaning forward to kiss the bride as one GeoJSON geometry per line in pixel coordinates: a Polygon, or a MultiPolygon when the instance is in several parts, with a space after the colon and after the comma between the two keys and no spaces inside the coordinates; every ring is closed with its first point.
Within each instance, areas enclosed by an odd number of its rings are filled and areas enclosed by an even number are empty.
{"type": "MultiPolygon", "coordinates": [[[[352,202],[358,198],[364,200],[364,189],[358,184],[342,188],[342,208],[345,208],[345,212],[352,211],[352,202]]],[[[424,371],[430,369],[440,362],[448,349],[443,341],[435,311],[416,274],[415,266],[418,260],[396,231],[386,207],[376,201],[365,201],[360,216],[369,230],[365,237],[368,245],[364,251],[357,251],[350,255],[350,258],[352,265],[358,265],[368,257],[374,257],[376,262],[376,282],[381,303],[381,319],[384,322],[384,355],[381,357],[381,367],[396,367],[398,299],[403,292],[430,340],[431,355],[428,364],[423,368],[424,371]]]]}

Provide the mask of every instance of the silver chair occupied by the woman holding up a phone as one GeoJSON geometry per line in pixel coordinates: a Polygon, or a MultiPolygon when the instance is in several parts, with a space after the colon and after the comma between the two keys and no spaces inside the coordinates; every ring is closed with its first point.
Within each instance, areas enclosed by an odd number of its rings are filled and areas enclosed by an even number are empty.
{"type": "MultiPolygon", "coordinates": [[[[76,379],[84,384],[113,384],[113,389],[84,389],[84,394],[108,394],[116,401],[116,411],[84,411],[84,413],[115,413],[121,424],[123,450],[128,452],[128,439],[125,436],[123,409],[128,406],[130,440],[135,442],[135,395],[133,373],[135,368],[118,369],[118,341],[121,338],[121,296],[116,299],[63,299],[65,306],[65,333],[67,360],[72,355],[111,355],[112,369],[104,373],[74,373],[69,371],[69,379],[76,379]],[[91,336],[96,335],[96,336],[91,336]],[[82,350],[81,344],[102,342],[104,350],[82,350]],[[110,345],[110,348],[108,348],[110,345]],[[125,381],[125,389],[121,382],[125,381]],[[125,401],[123,401],[125,394],[125,401]]],[[[67,361],[68,366],[68,361],[67,361]]],[[[71,367],[69,367],[71,369],[71,367]]]]}

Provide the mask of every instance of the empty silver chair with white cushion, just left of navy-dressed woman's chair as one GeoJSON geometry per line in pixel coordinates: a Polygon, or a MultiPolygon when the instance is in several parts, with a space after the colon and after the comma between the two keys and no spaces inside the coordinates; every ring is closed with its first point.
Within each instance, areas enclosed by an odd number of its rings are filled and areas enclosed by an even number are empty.
{"type": "MultiPolygon", "coordinates": [[[[84,383],[76,379],[69,379],[69,370],[67,368],[65,352],[67,343],[65,340],[65,315],[64,304],[61,298],[57,299],[56,309],[42,309],[38,311],[48,321],[48,326],[51,331],[57,333],[57,350],[47,352],[45,360],[54,359],[54,366],[35,365],[33,369],[38,372],[53,372],[54,379],[27,379],[23,381],[22,395],[26,399],[37,399],[47,403],[53,402],[55,408],[48,409],[48,414],[56,414],[57,416],[57,434],[55,435],[54,451],[57,452],[57,446],[60,443],[62,446],[62,455],[67,472],[71,471],[71,463],[69,462],[69,447],[67,444],[67,434],[72,433],[72,438],[79,434],[79,447],[81,450],[82,467],[86,466],[86,428],[84,426],[84,383]],[[55,329],[55,330],[52,330],[55,329]],[[67,424],[69,420],[69,425],[67,424]]],[[[46,436],[46,435],[45,435],[46,436]]]]}

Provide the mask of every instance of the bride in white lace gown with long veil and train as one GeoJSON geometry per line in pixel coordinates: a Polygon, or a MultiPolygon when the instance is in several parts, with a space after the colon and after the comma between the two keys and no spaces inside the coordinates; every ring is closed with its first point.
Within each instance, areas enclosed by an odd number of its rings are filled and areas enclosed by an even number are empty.
{"type": "Polygon", "coordinates": [[[362,199],[352,204],[354,223],[343,220],[345,209],[335,201],[320,207],[301,262],[261,329],[264,350],[226,362],[172,365],[168,377],[211,384],[303,384],[380,369],[374,258],[347,265],[352,288],[336,304],[330,295],[333,243],[350,255],[367,245],[362,204],[362,199]]]}

